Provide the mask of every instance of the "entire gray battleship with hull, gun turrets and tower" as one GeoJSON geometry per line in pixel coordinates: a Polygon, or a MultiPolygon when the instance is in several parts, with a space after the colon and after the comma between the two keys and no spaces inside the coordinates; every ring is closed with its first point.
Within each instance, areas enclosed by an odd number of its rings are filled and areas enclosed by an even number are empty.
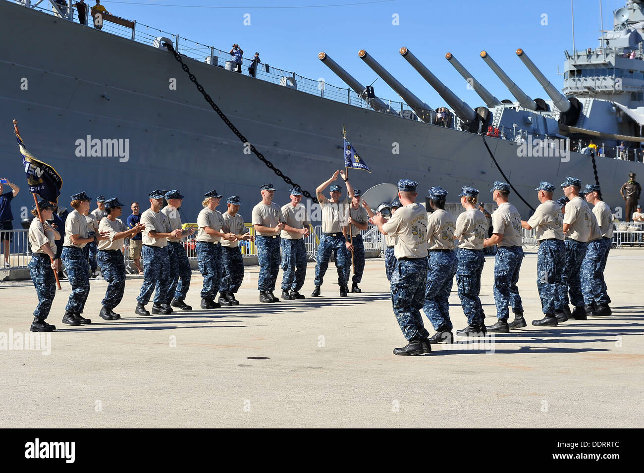
{"type": "MultiPolygon", "coordinates": [[[[587,144],[594,139],[605,149],[621,141],[630,147],[642,141],[642,8],[640,1],[629,0],[616,12],[614,30],[605,33],[601,50],[566,53],[565,95],[545,79],[526,52],[516,50],[518,60],[543,86],[547,100],[528,97],[486,51],[480,57],[515,101],[494,97],[448,53],[446,59],[484,102],[471,107],[431,73],[421,61],[424,58],[406,47],[400,49],[401,59],[439,92],[445,106],[426,104],[366,50],[359,51],[359,59],[405,104],[375,97],[327,53],[319,53],[319,59],[349,89],[328,84],[307,88],[304,78],[269,66],[258,71],[257,78],[234,73],[216,67],[223,64],[218,64],[213,48],[201,56],[184,49],[183,59],[249,142],[311,194],[327,174],[343,166],[345,125],[372,169],[372,174],[352,172],[354,187],[412,178],[421,189],[444,187],[448,199],[456,199],[463,185],[472,185],[484,192],[485,200],[491,181],[505,180],[504,172],[534,207],[540,180],[558,185],[573,175],[583,183],[595,182],[591,157],[571,152],[573,147],[588,152],[582,140],[587,144]],[[236,92],[227,92],[231,90],[236,92]],[[481,134],[486,135],[498,167],[481,134]]],[[[6,0],[0,1],[0,27],[0,110],[6,121],[6,133],[0,133],[0,159],[3,174],[10,179],[20,183],[23,172],[11,126],[17,118],[30,151],[61,174],[62,205],[68,203],[69,194],[86,190],[90,196],[118,196],[146,207],[150,190],[176,188],[187,196],[184,220],[190,220],[201,209],[200,196],[214,188],[224,196],[241,196],[247,204],[242,215],[249,218],[265,182],[278,189],[276,202],[288,201],[290,186],[245,153],[244,145],[167,52],[164,41],[176,46],[176,39],[142,36],[134,28],[131,37],[123,37],[122,32],[95,30],[6,0]],[[52,38],[59,50],[73,46],[73,55],[44,48],[52,38]],[[97,60],[79,59],[94,57],[96,51],[100,51],[97,60]],[[27,88],[22,87],[25,79],[27,88]],[[175,89],[168,87],[171,79],[175,89]],[[93,147],[93,140],[128,140],[128,156],[84,152],[93,147]]],[[[621,184],[641,164],[601,156],[595,161],[604,199],[612,207],[620,206],[621,184]]],[[[26,216],[21,209],[31,205],[24,187],[14,200],[16,217],[26,216]]],[[[527,205],[518,198],[513,203],[528,215],[527,205]]]]}

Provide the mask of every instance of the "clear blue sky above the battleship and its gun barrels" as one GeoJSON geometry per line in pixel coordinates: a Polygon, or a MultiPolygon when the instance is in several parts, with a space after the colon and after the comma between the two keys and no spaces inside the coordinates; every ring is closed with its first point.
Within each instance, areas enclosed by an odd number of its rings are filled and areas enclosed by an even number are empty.
{"type": "MultiPolygon", "coordinates": [[[[612,29],[612,12],[624,4],[625,0],[603,0],[605,30],[612,29]]],[[[523,48],[547,79],[561,89],[563,76],[557,75],[557,66],[563,72],[564,50],[571,51],[573,44],[569,0],[104,0],[103,5],[120,17],[222,50],[237,42],[245,57],[260,51],[262,61],[271,66],[311,79],[323,77],[328,84],[340,87],[346,86],[317,59],[317,53],[326,51],[356,79],[370,84],[377,76],[357,57],[357,51],[365,49],[432,107],[444,103],[399,55],[401,46],[407,46],[460,98],[477,107],[482,100],[466,88],[466,82],[444,59],[446,52],[453,53],[499,99],[512,97],[480,59],[478,53],[483,49],[528,95],[547,98],[514,51],[523,48]],[[258,8],[347,3],[359,5],[258,8]],[[243,24],[245,14],[251,15],[249,26],[243,24]],[[399,17],[398,25],[392,24],[394,14],[399,17]],[[544,14],[547,25],[542,25],[544,14]]],[[[574,10],[576,48],[595,48],[600,36],[599,0],[575,0],[574,10]]],[[[374,88],[377,96],[398,100],[383,80],[377,80],[374,88]]]]}

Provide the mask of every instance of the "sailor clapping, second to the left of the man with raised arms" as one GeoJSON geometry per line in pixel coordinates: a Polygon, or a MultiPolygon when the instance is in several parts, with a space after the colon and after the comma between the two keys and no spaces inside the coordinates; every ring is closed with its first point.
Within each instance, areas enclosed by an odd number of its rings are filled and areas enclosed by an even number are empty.
{"type": "Polygon", "coordinates": [[[279,234],[284,228],[284,218],[279,205],[273,202],[275,188],[272,184],[264,184],[260,188],[261,201],[252,208],[251,223],[255,227],[255,245],[257,259],[260,264],[260,275],[257,289],[260,292],[260,302],[279,302],[273,291],[278,279],[279,234]]]}

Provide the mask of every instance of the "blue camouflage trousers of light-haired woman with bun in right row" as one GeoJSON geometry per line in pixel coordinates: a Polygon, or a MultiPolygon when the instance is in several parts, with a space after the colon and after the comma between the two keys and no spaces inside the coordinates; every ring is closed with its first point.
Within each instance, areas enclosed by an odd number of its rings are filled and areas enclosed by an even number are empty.
{"type": "Polygon", "coordinates": [[[481,292],[481,273],[485,257],[483,250],[459,248],[457,252],[459,265],[456,270],[456,282],[459,286],[460,305],[469,325],[480,325],[485,319],[478,294],[481,292]]]}

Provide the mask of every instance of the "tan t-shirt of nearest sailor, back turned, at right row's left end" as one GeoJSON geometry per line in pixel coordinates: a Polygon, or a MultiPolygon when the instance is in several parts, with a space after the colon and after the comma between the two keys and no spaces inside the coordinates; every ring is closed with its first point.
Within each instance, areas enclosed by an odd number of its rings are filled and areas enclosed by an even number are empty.
{"type": "Polygon", "coordinates": [[[427,256],[427,211],[419,203],[396,210],[383,230],[397,237],[393,255],[397,258],[424,258],[427,256]]]}

